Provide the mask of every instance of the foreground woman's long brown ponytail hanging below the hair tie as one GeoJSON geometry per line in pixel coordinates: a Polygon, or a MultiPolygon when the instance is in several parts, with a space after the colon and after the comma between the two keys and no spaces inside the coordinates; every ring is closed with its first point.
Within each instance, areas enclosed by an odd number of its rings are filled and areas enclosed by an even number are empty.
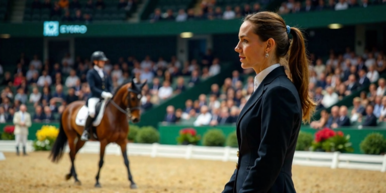
{"type": "Polygon", "coordinates": [[[306,46],[302,32],[298,28],[292,27],[289,33],[291,33],[293,39],[288,51],[288,68],[291,72],[292,82],[299,92],[303,110],[303,122],[309,123],[316,107],[316,103],[310,98],[308,93],[310,62],[306,56],[306,46]]]}

